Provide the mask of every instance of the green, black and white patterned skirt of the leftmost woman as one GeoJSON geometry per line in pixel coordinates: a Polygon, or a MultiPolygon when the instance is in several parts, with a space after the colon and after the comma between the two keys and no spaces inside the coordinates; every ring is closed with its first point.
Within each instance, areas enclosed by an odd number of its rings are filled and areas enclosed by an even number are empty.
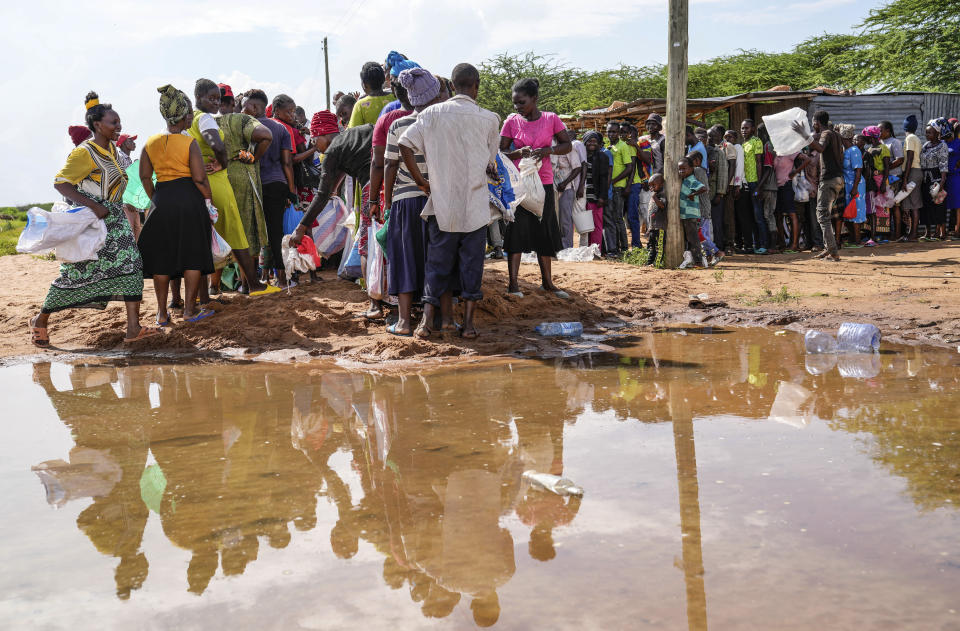
{"type": "Polygon", "coordinates": [[[104,309],[111,300],[143,299],[143,262],[122,202],[91,199],[110,211],[103,220],[107,239],[97,251],[97,260],[60,265],[60,276],[43,301],[44,313],[74,307],[104,309]]]}

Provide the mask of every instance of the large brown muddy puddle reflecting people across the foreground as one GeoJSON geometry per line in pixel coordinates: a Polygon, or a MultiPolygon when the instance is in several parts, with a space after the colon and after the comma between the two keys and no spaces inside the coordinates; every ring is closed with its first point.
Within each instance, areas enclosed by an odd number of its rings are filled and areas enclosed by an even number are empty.
{"type": "Polygon", "coordinates": [[[4,368],[0,622],[960,628],[960,355],[615,342],[402,377],[4,368]]]}

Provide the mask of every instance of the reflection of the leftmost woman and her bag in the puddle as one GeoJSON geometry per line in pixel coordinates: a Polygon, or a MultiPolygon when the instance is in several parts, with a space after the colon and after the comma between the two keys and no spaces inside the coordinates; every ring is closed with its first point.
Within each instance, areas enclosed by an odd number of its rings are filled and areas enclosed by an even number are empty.
{"type": "Polygon", "coordinates": [[[73,367],[72,389],[59,392],[48,363],[33,365],[33,380],[46,391],[76,441],[71,463],[51,461],[34,470],[42,472],[47,497],[53,503],[57,503],[55,498],[93,497],[93,503],[77,517],[77,526],[99,552],[120,559],[114,579],[117,596],[126,600],[143,585],[149,568],[140,551],[148,514],[140,498],[140,474],[147,459],[150,420],[143,383],[133,380],[133,391],[120,398],[111,387],[117,380],[113,368],[73,367]],[[78,462],[80,455],[84,458],[78,462]],[[94,456],[100,469],[108,472],[106,486],[74,475],[76,469],[89,472],[94,456]]]}

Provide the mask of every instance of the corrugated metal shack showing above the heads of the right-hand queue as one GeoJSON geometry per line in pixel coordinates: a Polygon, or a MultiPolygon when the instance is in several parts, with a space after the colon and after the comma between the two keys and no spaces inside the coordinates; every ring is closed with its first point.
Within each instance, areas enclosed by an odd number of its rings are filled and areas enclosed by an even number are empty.
{"type": "MultiPolygon", "coordinates": [[[[688,99],[687,116],[704,120],[708,114],[726,110],[726,126],[739,128],[745,118],[758,123],[768,114],[776,114],[793,107],[807,110],[810,115],[823,109],[836,123],[852,123],[863,128],[881,120],[893,122],[902,133],[901,122],[908,114],[925,122],[938,116],[960,117],[960,94],[945,92],[884,92],[876,94],[831,94],[821,90],[800,92],[747,92],[734,96],[706,99],[688,99]]],[[[666,99],[637,99],[630,103],[615,102],[599,110],[577,112],[571,126],[579,129],[599,129],[610,120],[628,120],[642,125],[651,112],[665,114],[666,99]]]]}

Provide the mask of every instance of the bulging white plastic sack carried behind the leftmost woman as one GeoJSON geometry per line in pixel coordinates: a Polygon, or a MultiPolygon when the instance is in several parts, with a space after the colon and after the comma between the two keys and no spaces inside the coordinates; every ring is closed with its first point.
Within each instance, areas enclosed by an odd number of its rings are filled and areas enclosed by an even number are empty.
{"type": "Polygon", "coordinates": [[[56,250],[66,263],[97,260],[97,251],[107,240],[107,225],[86,206],[54,204],[53,211],[31,208],[27,225],[17,240],[21,254],[47,254],[56,250]]]}

